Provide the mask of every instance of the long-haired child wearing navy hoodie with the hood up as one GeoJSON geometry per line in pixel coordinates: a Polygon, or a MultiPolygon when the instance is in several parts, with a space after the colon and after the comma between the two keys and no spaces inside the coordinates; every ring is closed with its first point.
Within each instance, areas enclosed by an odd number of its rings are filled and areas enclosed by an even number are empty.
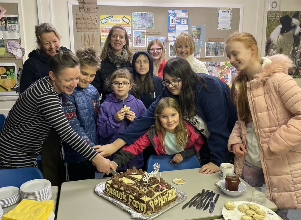
{"type": "Polygon", "coordinates": [[[146,108],[153,103],[161,93],[162,78],[154,76],[153,61],[146,51],[138,51],[133,56],[133,74],[137,84],[136,95],[146,108]]]}

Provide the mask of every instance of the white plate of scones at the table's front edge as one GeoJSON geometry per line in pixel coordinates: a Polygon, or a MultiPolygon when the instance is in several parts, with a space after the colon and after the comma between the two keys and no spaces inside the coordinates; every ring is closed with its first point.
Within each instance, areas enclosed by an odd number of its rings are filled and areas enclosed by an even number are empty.
{"type": "Polygon", "coordinates": [[[225,220],[279,220],[271,209],[253,202],[227,201],[222,210],[225,220]]]}

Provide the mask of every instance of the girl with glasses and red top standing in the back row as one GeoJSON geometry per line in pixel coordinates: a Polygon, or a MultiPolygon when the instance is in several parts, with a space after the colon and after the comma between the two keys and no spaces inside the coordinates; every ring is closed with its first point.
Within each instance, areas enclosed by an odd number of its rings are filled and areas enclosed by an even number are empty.
{"type": "Polygon", "coordinates": [[[147,52],[149,52],[154,64],[154,75],[163,78],[163,68],[165,61],[165,49],[163,43],[158,40],[151,40],[147,46],[147,52]]]}

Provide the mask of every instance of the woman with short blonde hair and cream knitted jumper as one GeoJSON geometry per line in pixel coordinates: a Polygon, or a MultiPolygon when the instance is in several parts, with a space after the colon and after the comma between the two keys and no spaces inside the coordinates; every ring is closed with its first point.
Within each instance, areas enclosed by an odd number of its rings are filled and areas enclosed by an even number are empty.
{"type": "Polygon", "coordinates": [[[206,73],[209,75],[206,65],[194,58],[195,44],[194,40],[188,33],[181,33],[173,45],[173,52],[180,57],[183,57],[190,64],[195,73],[206,73]]]}

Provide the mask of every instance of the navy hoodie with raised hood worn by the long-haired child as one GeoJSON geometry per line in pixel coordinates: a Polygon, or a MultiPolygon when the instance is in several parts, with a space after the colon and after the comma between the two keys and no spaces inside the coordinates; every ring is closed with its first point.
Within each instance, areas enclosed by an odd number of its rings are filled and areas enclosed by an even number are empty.
{"type": "Polygon", "coordinates": [[[138,58],[138,56],[140,55],[146,55],[146,57],[148,58],[148,61],[150,63],[150,70],[147,74],[150,74],[152,79],[153,79],[153,85],[154,85],[154,90],[150,93],[147,94],[137,94],[136,93],[136,98],[140,99],[143,104],[145,105],[146,108],[150,107],[151,103],[153,103],[156,98],[161,94],[162,89],[164,88],[161,80],[161,77],[158,76],[154,76],[154,64],[153,64],[153,60],[150,57],[150,54],[146,51],[138,51],[134,54],[133,56],[133,74],[134,74],[134,78],[136,77],[136,75],[138,74],[135,68],[135,61],[138,58]]]}

